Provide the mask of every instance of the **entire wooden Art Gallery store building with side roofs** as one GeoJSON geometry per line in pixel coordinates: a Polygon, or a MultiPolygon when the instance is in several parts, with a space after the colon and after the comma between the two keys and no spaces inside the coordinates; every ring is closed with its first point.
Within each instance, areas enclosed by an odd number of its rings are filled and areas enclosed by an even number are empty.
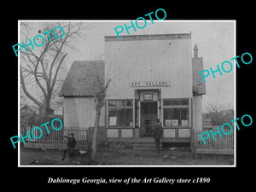
{"type": "Polygon", "coordinates": [[[111,79],[101,125],[111,141],[152,137],[155,119],[163,142],[189,142],[202,129],[202,58],[191,34],[105,37],[105,61],[74,61],[62,86],[64,125],[93,126],[97,79],[111,79]]]}

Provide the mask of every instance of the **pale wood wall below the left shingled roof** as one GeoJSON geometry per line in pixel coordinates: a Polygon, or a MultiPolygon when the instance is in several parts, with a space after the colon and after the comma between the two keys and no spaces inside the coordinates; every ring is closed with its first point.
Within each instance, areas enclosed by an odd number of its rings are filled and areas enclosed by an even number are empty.
{"type": "MultiPolygon", "coordinates": [[[[89,97],[64,97],[65,126],[94,126],[96,110],[94,100],[89,97]]],[[[105,109],[102,108],[100,125],[105,122],[105,109]]]]}

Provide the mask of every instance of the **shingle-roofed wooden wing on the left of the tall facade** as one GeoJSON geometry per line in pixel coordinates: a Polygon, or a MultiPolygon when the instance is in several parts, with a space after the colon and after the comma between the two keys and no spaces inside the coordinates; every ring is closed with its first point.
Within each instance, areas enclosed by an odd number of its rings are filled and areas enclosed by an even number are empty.
{"type": "MultiPolygon", "coordinates": [[[[90,127],[94,125],[96,110],[94,96],[97,81],[104,79],[104,61],[73,61],[59,96],[64,96],[64,125],[90,127]]],[[[100,125],[104,124],[102,109],[100,125]]]]}

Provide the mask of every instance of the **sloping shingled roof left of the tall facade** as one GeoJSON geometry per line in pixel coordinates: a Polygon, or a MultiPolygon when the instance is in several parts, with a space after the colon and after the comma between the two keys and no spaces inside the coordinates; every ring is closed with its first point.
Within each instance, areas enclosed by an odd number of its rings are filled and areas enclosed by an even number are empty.
{"type": "Polygon", "coordinates": [[[59,96],[94,96],[103,79],[104,61],[73,61],[59,96]]]}

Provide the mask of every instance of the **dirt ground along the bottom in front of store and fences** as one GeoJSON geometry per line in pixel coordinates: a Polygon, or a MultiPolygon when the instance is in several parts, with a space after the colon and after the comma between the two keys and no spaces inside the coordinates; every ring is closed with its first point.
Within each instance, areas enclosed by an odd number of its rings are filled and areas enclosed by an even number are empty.
{"type": "MultiPolygon", "coordinates": [[[[63,150],[20,148],[20,165],[90,165],[90,152],[75,157],[68,153],[62,160],[63,150]]],[[[84,151],[85,152],[85,151],[84,151]]],[[[156,151],[136,151],[131,147],[104,146],[97,153],[98,165],[234,165],[233,155],[192,154],[188,147],[165,147],[156,151]]]]}

